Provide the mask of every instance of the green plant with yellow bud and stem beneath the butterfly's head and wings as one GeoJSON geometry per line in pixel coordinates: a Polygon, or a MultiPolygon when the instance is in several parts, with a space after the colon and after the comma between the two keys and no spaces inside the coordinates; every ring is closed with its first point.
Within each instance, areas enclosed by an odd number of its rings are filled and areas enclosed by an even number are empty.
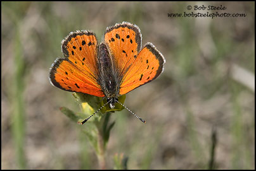
{"type": "MultiPolygon", "coordinates": [[[[110,116],[112,112],[123,110],[124,107],[116,103],[115,108],[110,109],[108,105],[105,105],[106,98],[95,97],[84,93],[73,93],[73,95],[75,100],[80,104],[81,112],[73,112],[67,107],[61,107],[60,110],[72,121],[78,122],[79,124],[95,111],[98,111],[97,114],[81,126],[81,129],[96,152],[99,168],[106,169],[106,145],[110,138],[110,131],[115,125],[115,121],[110,121],[110,116]]],[[[124,103],[124,100],[125,95],[118,98],[120,103],[124,103]]],[[[122,158],[120,159],[120,157],[116,156],[114,160],[122,160],[122,158]]],[[[115,166],[115,168],[120,168],[120,166],[115,166]]]]}

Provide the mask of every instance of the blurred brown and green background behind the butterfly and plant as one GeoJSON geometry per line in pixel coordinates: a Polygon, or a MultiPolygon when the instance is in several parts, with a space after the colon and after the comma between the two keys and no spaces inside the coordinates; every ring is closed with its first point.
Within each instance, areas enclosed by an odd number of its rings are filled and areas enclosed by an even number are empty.
{"type": "MultiPolygon", "coordinates": [[[[255,169],[255,2],[1,2],[1,168],[97,169],[80,125],[60,112],[80,111],[72,93],[49,83],[75,30],[138,25],[166,59],[157,80],[127,94],[107,146],[129,169],[255,169]],[[187,6],[226,6],[236,18],[168,17],[187,6]]],[[[216,11],[208,11],[215,13],[216,11]]],[[[86,127],[86,125],[84,125],[86,127]]]]}

